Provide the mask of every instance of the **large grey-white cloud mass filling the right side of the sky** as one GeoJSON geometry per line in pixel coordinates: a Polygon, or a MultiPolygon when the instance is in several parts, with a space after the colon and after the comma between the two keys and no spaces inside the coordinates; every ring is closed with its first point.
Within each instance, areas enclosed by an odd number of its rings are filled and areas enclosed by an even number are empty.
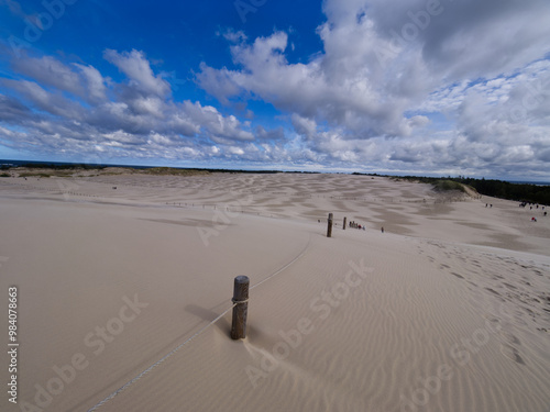
{"type": "Polygon", "coordinates": [[[544,0],[327,0],[323,12],[308,63],[288,62],[292,33],[231,36],[234,67],[204,63],[197,83],[222,102],[273,104],[332,165],[548,168],[544,0]]]}

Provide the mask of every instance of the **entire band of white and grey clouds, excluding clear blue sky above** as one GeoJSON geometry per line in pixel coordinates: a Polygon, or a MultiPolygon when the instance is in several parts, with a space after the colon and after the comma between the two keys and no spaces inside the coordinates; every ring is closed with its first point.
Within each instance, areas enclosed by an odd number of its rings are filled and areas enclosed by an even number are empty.
{"type": "Polygon", "coordinates": [[[18,76],[0,80],[2,144],[208,164],[548,176],[547,0],[326,0],[322,10],[322,47],[302,60],[290,57],[299,53],[290,31],[255,38],[219,31],[232,62],[205,60],[195,76],[220,104],[176,101],[142,51],[105,51],[117,80],[82,62],[23,55],[12,62],[18,76]],[[258,101],[279,115],[255,116],[258,101]]]}

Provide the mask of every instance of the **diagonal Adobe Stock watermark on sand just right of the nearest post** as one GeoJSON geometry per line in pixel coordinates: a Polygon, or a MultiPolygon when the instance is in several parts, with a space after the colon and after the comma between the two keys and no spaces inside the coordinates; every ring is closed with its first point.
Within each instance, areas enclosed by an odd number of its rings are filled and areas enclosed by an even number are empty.
{"type": "Polygon", "coordinates": [[[320,296],[315,297],[309,302],[309,309],[315,315],[300,318],[294,329],[278,331],[280,341],[273,345],[271,353],[262,348],[258,350],[262,354],[260,364],[256,366],[248,365],[244,368],[254,389],[257,388],[261,379],[267,378],[272,371],[278,368],[280,361],[288,358],[293,350],[304,344],[305,336],[314,332],[316,321],[327,320],[332,310],[340,307],[352,290],[358,288],[367,275],[374,271],[374,268],[365,266],[363,258],[359,265],[354,261],[349,261],[348,265],[350,270],[344,275],[342,281],[334,283],[328,291],[323,290],[320,296]]]}

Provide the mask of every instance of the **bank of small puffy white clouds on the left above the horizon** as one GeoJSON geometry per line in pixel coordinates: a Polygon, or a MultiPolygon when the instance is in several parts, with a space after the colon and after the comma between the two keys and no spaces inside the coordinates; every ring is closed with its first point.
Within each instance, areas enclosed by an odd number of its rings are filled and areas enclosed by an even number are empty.
{"type": "Polygon", "coordinates": [[[141,52],[106,51],[105,57],[125,75],[121,82],[91,65],[52,56],[15,62],[20,78],[0,79],[10,93],[0,94],[2,144],[103,159],[253,160],[260,152],[256,140],[273,145],[284,137],[280,127],[252,130],[249,121],[212,105],[174,101],[169,85],[141,52]]]}

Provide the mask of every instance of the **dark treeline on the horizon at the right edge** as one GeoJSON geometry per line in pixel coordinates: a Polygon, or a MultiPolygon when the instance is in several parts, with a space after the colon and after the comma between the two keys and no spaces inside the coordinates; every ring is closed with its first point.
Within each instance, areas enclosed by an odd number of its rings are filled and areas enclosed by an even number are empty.
{"type": "MultiPolygon", "coordinates": [[[[360,175],[360,174],[354,174],[360,175]]],[[[370,175],[381,176],[381,175],[370,175]]],[[[394,177],[395,176],[386,176],[394,177]]],[[[480,194],[491,196],[507,200],[520,202],[531,202],[539,204],[550,204],[550,186],[537,186],[529,183],[510,183],[509,181],[495,179],[474,179],[464,176],[459,177],[419,177],[419,176],[399,176],[399,179],[420,181],[422,183],[433,185],[435,188],[442,190],[457,189],[447,182],[454,181],[470,186],[480,194]]]]}

